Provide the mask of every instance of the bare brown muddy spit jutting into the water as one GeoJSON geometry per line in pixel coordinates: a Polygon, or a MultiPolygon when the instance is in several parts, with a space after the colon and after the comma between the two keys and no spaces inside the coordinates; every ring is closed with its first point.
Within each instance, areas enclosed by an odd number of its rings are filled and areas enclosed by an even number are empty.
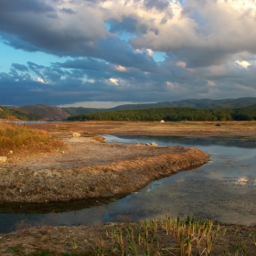
{"type": "Polygon", "coordinates": [[[194,148],[105,144],[66,138],[67,152],[9,159],[0,166],[0,202],[45,203],[122,197],[152,180],[203,165],[194,148]]]}

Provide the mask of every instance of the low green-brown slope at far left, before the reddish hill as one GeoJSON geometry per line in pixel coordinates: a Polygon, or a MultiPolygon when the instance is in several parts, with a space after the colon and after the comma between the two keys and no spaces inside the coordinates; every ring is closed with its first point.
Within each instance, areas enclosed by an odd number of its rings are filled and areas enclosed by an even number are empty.
{"type": "Polygon", "coordinates": [[[39,117],[35,114],[25,112],[17,107],[4,107],[0,106],[0,119],[9,119],[14,117],[20,120],[38,120],[39,117]]]}

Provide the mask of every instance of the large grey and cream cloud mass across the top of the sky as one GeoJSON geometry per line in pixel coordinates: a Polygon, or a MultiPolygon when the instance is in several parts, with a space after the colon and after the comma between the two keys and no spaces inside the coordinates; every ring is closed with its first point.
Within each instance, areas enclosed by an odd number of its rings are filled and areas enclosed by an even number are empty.
{"type": "Polygon", "coordinates": [[[114,36],[110,32],[124,32],[133,34],[133,48],[176,54],[190,67],[222,64],[242,51],[256,53],[254,0],[187,0],[186,5],[168,0],[26,0],[21,5],[5,0],[0,10],[5,43],[28,51],[112,61],[105,53],[113,50],[110,44],[118,51],[127,47],[109,38],[114,36]]]}

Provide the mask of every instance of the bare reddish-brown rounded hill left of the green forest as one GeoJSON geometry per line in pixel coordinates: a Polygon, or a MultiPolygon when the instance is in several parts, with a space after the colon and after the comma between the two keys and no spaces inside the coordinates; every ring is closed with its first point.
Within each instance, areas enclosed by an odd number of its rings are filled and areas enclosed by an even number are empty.
{"type": "Polygon", "coordinates": [[[25,112],[35,114],[39,116],[43,120],[63,120],[69,117],[68,112],[64,112],[59,107],[52,107],[48,105],[27,105],[22,106],[20,109],[24,110],[25,112]]]}

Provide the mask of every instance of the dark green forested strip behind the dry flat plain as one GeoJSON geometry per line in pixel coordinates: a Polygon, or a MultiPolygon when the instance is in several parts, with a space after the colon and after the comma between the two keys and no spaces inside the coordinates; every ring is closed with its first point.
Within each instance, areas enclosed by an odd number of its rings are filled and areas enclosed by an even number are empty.
{"type": "Polygon", "coordinates": [[[240,109],[199,110],[192,108],[156,108],[115,112],[97,112],[69,116],[69,121],[251,121],[256,120],[256,106],[240,109]]]}

